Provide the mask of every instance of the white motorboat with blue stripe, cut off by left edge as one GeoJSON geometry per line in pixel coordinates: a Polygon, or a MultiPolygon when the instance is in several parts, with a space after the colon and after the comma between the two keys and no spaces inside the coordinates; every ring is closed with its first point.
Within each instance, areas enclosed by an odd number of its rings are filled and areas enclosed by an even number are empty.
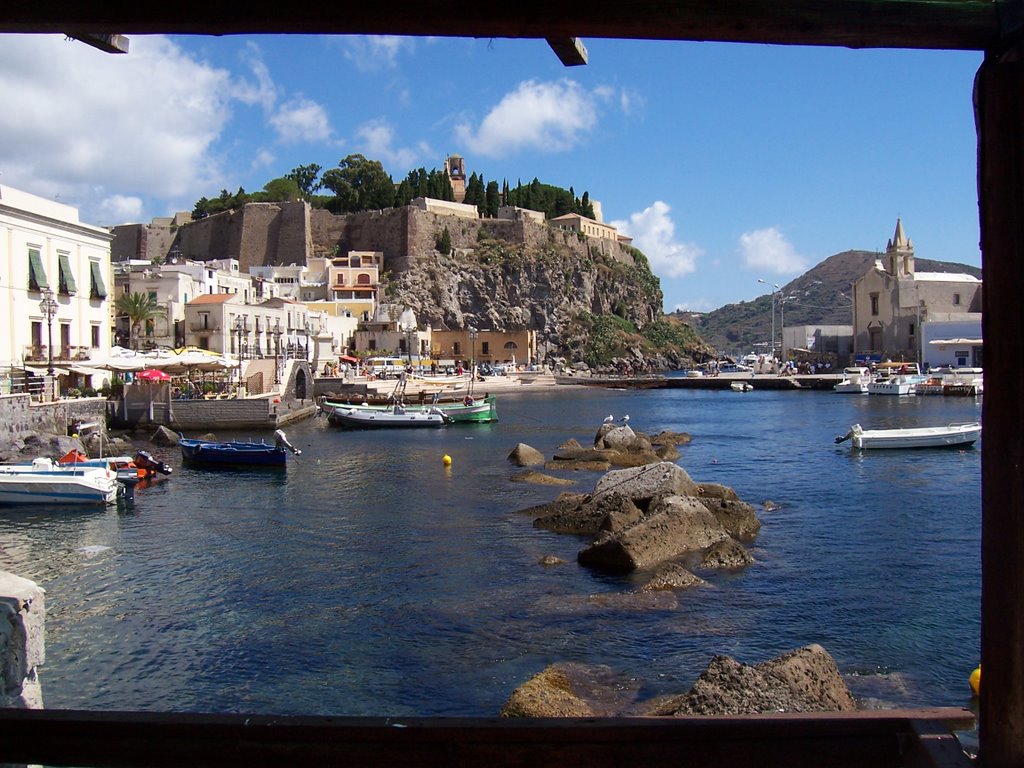
{"type": "Polygon", "coordinates": [[[105,467],[61,466],[50,459],[0,466],[0,504],[113,504],[121,485],[105,467]]]}

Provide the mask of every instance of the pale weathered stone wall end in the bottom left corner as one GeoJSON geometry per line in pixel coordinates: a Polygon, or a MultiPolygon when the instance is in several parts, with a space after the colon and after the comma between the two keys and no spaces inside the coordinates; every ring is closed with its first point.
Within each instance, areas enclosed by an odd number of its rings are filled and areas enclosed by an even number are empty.
{"type": "Polygon", "coordinates": [[[0,571],[0,708],[43,709],[38,668],[46,660],[45,591],[0,571]]]}

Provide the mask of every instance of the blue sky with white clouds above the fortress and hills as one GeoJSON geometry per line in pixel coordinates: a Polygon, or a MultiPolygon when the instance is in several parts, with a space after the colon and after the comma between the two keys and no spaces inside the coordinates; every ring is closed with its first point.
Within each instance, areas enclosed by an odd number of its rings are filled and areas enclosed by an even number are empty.
{"type": "Polygon", "coordinates": [[[379,160],[589,193],[665,311],[767,293],[901,218],[980,265],[978,52],[586,39],[0,35],[0,183],[87,223],[148,222],[300,165],[379,160]],[[759,283],[759,281],[764,281],[759,283]]]}

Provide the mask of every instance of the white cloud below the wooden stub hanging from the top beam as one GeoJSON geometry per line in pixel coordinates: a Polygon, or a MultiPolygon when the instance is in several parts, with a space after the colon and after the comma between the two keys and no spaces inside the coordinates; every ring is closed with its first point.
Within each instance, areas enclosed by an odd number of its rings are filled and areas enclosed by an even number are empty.
{"type": "Polygon", "coordinates": [[[588,91],[572,80],[532,80],[505,95],[477,128],[456,126],[456,137],[468,152],[500,157],[519,150],[561,152],[579,144],[597,125],[599,103],[609,93],[588,91]]]}

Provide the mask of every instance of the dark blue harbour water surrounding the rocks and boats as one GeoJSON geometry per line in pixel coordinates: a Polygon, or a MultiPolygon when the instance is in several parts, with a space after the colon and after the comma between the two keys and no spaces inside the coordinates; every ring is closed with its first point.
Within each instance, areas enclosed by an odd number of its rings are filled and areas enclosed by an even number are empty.
{"type": "MultiPolygon", "coordinates": [[[[287,471],[155,452],[175,472],[131,508],[0,510],[0,569],[46,589],[46,706],[493,716],[553,663],[643,700],[685,692],[716,654],[757,664],[808,643],[868,706],[967,703],[980,446],[860,453],[834,438],[979,420],[980,401],[562,387],[502,395],[499,412],[437,430],[310,419],[288,428],[303,453],[287,471]],[[563,488],[513,482],[509,452],[589,444],[608,415],[692,435],[678,463],[762,521],[753,565],[641,599],[646,574],[584,568],[585,539],[534,527],[522,510],[563,488]]],[[[578,493],[600,476],[560,474],[578,493]]]]}

